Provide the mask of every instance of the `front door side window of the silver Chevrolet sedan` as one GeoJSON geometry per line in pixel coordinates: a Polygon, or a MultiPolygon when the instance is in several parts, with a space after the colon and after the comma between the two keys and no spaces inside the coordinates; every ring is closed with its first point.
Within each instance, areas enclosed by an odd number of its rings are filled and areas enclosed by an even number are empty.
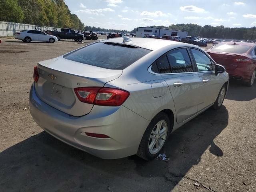
{"type": "Polygon", "coordinates": [[[210,58],[197,49],[191,49],[191,52],[194,56],[194,59],[196,61],[196,66],[198,68],[198,71],[213,71],[214,67],[212,66],[212,61],[210,58]]]}

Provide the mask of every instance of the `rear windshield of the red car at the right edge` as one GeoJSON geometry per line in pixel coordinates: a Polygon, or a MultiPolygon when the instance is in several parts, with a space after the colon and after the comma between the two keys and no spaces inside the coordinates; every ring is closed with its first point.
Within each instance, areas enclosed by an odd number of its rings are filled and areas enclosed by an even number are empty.
{"type": "Polygon", "coordinates": [[[250,48],[251,46],[247,45],[217,44],[211,48],[211,51],[241,54],[248,52],[250,48]]]}

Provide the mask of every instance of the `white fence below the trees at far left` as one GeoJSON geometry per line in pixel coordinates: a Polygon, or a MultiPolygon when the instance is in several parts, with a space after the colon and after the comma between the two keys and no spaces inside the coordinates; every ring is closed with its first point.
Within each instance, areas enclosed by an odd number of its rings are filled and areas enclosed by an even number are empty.
{"type": "MultiPolygon", "coordinates": [[[[23,23],[12,23],[0,21],[0,37],[14,36],[15,32],[24,29],[38,29],[35,25],[23,24],[23,23]]],[[[60,28],[57,28],[60,30],[60,28]]],[[[53,27],[41,26],[41,30],[53,30],[53,27]]]]}

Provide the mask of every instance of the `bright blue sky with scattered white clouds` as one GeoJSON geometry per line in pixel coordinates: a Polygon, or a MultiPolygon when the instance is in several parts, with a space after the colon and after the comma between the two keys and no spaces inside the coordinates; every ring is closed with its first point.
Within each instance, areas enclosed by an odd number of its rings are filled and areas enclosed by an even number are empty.
{"type": "Polygon", "coordinates": [[[84,25],[133,30],[180,23],[256,26],[256,0],[65,0],[84,25]]]}

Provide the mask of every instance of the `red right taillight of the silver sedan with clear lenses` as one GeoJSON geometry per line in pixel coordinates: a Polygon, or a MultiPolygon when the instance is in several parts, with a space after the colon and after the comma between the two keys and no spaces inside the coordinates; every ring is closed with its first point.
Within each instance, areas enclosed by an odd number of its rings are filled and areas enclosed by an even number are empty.
{"type": "Polygon", "coordinates": [[[130,95],[125,90],[107,87],[78,87],[74,91],[81,102],[102,106],[120,106],[130,95]]]}

